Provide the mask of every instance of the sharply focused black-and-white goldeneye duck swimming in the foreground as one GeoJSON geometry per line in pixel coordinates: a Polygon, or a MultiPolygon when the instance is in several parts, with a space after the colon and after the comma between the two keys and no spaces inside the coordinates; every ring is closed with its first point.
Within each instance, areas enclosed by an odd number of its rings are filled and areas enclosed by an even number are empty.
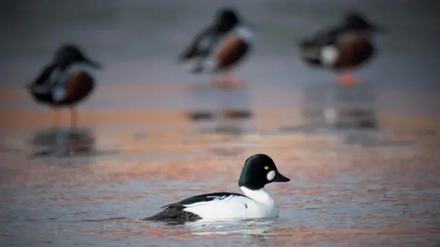
{"type": "Polygon", "coordinates": [[[239,178],[243,194],[217,192],[192,196],[161,207],[163,211],[143,220],[232,220],[278,217],[278,208],[264,186],[273,182],[289,182],[278,172],[266,154],[254,154],[246,161],[239,178]]]}

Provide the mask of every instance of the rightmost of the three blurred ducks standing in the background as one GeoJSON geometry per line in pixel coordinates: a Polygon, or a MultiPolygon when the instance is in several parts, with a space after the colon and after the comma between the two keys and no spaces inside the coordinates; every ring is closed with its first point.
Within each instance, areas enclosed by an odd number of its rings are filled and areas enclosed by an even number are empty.
{"type": "Polygon", "coordinates": [[[383,31],[362,14],[347,12],[340,25],[301,40],[301,56],[308,64],[336,71],[341,86],[353,86],[352,71],[373,57],[372,36],[383,31]]]}

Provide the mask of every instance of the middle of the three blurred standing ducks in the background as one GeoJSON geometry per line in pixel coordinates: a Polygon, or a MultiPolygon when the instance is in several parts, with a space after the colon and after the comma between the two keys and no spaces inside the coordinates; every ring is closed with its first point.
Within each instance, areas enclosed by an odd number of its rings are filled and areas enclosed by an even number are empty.
{"type": "Polygon", "coordinates": [[[232,8],[221,8],[214,23],[195,36],[179,56],[179,64],[194,74],[211,74],[218,86],[239,86],[230,71],[250,53],[254,32],[232,8]],[[215,75],[223,73],[221,80],[215,75]]]}

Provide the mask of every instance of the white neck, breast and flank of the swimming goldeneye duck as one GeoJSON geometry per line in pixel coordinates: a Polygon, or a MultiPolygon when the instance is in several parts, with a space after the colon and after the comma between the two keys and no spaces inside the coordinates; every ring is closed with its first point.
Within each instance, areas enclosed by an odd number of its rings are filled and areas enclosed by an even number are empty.
{"type": "Polygon", "coordinates": [[[278,217],[278,209],[272,197],[260,189],[252,191],[241,187],[249,198],[244,196],[233,196],[223,200],[210,202],[199,202],[184,209],[195,213],[203,220],[231,220],[231,219],[259,219],[278,217]]]}

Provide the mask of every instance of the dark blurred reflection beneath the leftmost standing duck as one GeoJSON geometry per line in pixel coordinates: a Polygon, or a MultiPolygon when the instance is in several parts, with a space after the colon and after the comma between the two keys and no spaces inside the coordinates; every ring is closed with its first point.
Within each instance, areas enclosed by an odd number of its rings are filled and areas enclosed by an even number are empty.
{"type": "Polygon", "coordinates": [[[96,150],[94,133],[89,129],[52,128],[37,132],[30,145],[34,152],[30,158],[89,156],[96,150]]]}

